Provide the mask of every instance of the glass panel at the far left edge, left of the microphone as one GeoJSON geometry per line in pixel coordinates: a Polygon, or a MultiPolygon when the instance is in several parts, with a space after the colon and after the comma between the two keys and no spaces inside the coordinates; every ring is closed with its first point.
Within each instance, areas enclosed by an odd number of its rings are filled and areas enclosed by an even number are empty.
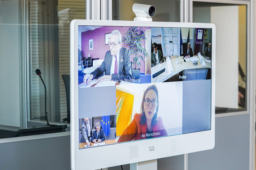
{"type": "Polygon", "coordinates": [[[0,139],[22,127],[18,0],[0,0],[0,139]]]}

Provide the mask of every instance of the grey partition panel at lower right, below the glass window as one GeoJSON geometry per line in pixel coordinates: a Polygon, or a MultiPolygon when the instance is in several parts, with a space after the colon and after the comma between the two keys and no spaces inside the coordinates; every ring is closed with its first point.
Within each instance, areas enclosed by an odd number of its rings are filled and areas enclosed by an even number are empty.
{"type": "Polygon", "coordinates": [[[189,153],[189,170],[249,169],[249,115],[215,119],[215,147],[212,150],[189,153]]]}

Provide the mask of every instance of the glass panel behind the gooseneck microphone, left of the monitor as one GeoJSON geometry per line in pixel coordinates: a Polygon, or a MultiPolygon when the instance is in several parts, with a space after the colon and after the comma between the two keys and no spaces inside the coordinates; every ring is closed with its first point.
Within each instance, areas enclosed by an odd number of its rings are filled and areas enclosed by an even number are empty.
{"type": "Polygon", "coordinates": [[[86,19],[86,1],[42,0],[27,4],[29,120],[45,120],[44,87],[35,73],[39,68],[47,89],[48,120],[69,123],[70,22],[86,19]]]}

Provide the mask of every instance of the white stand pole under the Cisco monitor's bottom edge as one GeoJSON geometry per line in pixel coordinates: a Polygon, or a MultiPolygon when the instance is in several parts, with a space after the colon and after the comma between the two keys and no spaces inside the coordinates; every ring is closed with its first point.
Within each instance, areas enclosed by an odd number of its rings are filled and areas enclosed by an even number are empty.
{"type": "Polygon", "coordinates": [[[143,162],[130,163],[130,170],[157,170],[157,159],[143,162]]]}

